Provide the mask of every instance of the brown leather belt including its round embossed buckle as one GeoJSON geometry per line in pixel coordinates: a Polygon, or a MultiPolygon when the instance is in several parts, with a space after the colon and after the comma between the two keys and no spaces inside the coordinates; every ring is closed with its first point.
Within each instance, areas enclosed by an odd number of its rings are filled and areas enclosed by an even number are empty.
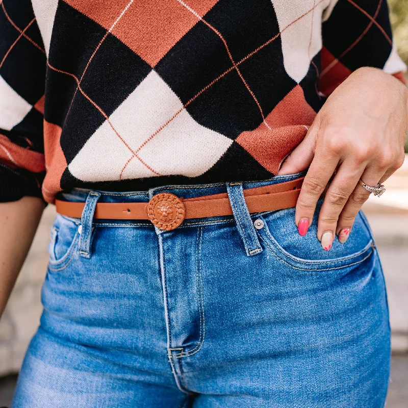
{"type": "MultiPolygon", "coordinates": [[[[296,206],[304,177],[290,182],[244,189],[250,213],[283,210],[296,206]]],[[[57,213],[81,218],[84,202],[56,200],[57,213]]],[[[186,218],[233,215],[227,193],[183,199],[171,193],[159,193],[146,202],[98,202],[93,218],[150,220],[161,230],[174,230],[186,218]]]]}

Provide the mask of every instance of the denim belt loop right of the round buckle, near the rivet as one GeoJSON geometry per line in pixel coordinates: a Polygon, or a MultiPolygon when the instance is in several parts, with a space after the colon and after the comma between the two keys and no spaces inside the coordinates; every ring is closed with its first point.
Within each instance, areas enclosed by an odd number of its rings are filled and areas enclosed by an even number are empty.
{"type": "Polygon", "coordinates": [[[247,256],[252,257],[253,255],[261,253],[262,246],[259,242],[255,227],[253,226],[248,207],[246,206],[242,183],[227,183],[226,190],[228,197],[230,197],[235,222],[239,235],[244,243],[247,256]]]}

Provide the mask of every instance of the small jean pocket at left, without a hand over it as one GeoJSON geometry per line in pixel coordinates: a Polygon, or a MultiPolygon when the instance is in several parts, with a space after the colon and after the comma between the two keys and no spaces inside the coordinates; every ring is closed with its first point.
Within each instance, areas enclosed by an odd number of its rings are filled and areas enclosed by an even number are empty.
{"type": "Polygon", "coordinates": [[[79,235],[78,222],[61,215],[56,216],[48,244],[48,268],[50,270],[62,270],[68,265],[77,249],[79,235]]]}

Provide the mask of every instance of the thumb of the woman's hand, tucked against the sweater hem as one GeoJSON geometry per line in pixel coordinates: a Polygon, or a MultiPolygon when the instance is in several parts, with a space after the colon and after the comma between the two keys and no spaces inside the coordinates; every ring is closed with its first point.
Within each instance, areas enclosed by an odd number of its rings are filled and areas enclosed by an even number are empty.
{"type": "Polygon", "coordinates": [[[277,175],[299,173],[310,166],[315,156],[318,129],[319,126],[312,124],[304,139],[282,163],[277,175]]]}

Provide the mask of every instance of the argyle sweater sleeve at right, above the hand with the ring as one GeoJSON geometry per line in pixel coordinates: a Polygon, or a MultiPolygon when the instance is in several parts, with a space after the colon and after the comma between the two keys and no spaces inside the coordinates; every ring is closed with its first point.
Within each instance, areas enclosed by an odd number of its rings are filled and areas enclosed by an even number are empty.
{"type": "Polygon", "coordinates": [[[322,37],[320,90],[325,96],[363,66],[383,69],[405,83],[387,0],[331,0],[323,13],[322,37]]]}

